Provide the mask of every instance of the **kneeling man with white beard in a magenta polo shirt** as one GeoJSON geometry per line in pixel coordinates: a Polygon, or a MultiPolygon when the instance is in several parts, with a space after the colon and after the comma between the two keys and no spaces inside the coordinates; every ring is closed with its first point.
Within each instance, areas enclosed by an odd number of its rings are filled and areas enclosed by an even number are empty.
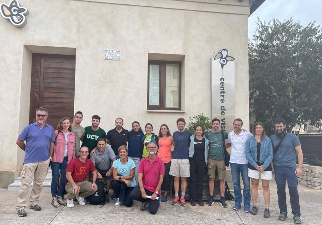
{"type": "Polygon", "coordinates": [[[141,211],[147,209],[149,204],[149,212],[156,214],[159,208],[161,185],[164,177],[164,163],[156,154],[157,145],[154,142],[147,144],[148,157],[141,160],[139,165],[139,186],[136,186],[130,197],[134,200],[142,202],[141,211]]]}

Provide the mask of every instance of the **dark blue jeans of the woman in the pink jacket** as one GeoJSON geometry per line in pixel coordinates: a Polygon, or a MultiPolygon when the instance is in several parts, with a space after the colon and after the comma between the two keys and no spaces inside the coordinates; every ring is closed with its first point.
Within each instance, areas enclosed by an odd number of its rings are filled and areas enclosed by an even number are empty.
{"type": "Polygon", "coordinates": [[[51,184],[51,192],[52,197],[62,196],[65,192],[65,182],[66,178],[66,167],[67,167],[68,157],[64,157],[64,161],[62,163],[51,162],[52,168],[52,184],[51,184]],[[59,172],[61,173],[61,180],[58,186],[59,180],[59,172]]]}

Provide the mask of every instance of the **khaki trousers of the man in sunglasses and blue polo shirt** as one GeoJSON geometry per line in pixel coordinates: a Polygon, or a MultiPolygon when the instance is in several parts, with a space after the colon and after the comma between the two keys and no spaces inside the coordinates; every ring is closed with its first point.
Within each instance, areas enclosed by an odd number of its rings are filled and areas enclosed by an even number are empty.
{"type": "Polygon", "coordinates": [[[21,172],[21,186],[18,192],[17,209],[24,209],[28,206],[34,206],[39,202],[39,196],[43,189],[43,182],[48,173],[50,159],[27,163],[23,166],[21,172]],[[29,196],[30,195],[30,196],[29,196]]]}

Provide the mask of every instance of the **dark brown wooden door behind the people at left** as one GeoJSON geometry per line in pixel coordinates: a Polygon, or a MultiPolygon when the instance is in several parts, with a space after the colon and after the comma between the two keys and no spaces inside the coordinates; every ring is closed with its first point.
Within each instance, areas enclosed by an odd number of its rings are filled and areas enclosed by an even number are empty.
{"type": "Polygon", "coordinates": [[[40,106],[48,109],[47,123],[56,129],[59,120],[74,113],[75,56],[33,54],[29,123],[40,106]]]}

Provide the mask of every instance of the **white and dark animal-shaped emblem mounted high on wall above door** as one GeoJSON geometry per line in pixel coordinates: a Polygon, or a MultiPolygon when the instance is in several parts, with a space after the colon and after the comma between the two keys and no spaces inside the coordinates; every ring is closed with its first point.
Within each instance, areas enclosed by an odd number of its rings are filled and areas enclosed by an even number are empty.
{"type": "Polygon", "coordinates": [[[25,7],[21,7],[18,1],[12,0],[9,5],[1,4],[1,14],[5,19],[10,20],[14,26],[23,27],[27,23],[25,16],[29,14],[29,11],[25,7]]]}

